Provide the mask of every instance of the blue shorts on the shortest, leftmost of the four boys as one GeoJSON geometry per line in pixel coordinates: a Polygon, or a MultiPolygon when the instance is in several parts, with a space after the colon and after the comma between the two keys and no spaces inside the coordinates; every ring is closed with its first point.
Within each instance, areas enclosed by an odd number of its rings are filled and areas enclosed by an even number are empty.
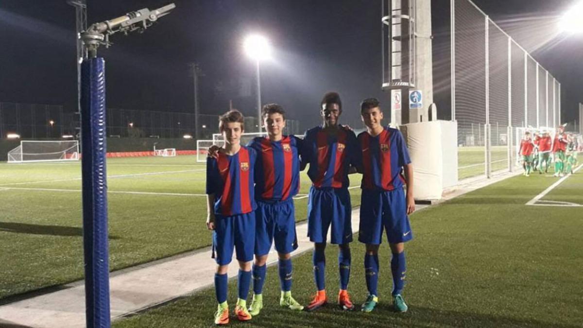
{"type": "Polygon", "coordinates": [[[215,217],[213,250],[216,251],[217,264],[224,266],[231,263],[233,247],[237,250],[237,260],[244,262],[253,260],[255,212],[230,217],[216,214],[215,217]]]}

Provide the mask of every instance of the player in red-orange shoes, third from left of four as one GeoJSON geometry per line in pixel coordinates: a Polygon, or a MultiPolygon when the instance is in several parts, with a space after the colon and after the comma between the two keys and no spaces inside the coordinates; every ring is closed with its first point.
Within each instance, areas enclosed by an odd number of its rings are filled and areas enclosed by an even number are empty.
{"type": "Polygon", "coordinates": [[[310,163],[308,176],[312,186],[308,198],[308,236],[314,243],[312,260],[318,289],[306,309],[312,311],[328,302],[324,283],[324,250],[328,229],[332,226],[331,242],[339,246],[338,304],[344,310],[352,310],[354,305],[346,291],[351,262],[349,243],[352,242],[348,173],[350,165],[357,165],[360,153],[354,132],[338,124],[342,114],[338,93],[328,92],[324,95],[320,102],[320,114],[324,124],[305,132],[301,152],[302,168],[310,163]]]}

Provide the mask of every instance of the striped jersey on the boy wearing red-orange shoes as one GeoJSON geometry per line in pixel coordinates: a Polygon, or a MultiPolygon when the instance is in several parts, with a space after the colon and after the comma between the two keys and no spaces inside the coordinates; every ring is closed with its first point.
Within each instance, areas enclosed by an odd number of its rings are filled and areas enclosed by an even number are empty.
{"type": "Polygon", "coordinates": [[[360,148],[352,130],[340,128],[332,136],[322,126],[305,131],[301,166],[310,163],[308,176],[314,187],[347,188],[350,165],[359,165],[360,148]]]}

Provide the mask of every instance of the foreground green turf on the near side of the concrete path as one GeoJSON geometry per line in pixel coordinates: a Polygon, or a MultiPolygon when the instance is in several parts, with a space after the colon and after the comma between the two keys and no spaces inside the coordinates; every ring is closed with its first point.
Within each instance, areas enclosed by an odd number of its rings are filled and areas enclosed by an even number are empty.
{"type": "MultiPolygon", "coordinates": [[[[581,200],[583,170],[549,197],[563,191],[581,200]]],[[[391,308],[390,255],[380,252],[380,304],[371,313],[348,313],[333,302],[338,292],[336,247],[326,250],[326,286],[332,304],[314,313],[279,308],[276,267],[268,269],[265,309],[257,327],[581,327],[583,322],[583,220],[581,208],[525,204],[558,178],[517,176],[416,212],[415,239],[406,245],[404,296],[407,313],[391,308]]],[[[570,198],[574,201],[574,198],[570,198]]],[[[349,291],[357,307],[366,298],[364,247],[352,243],[349,291]]],[[[293,260],[293,295],[307,304],[315,287],[311,254],[293,260]]],[[[195,279],[195,277],[192,277],[195,279]]],[[[229,285],[231,311],[236,281],[229,285]]],[[[250,292],[250,297],[252,292],[250,292]]],[[[216,309],[212,287],[114,322],[114,327],[209,327],[216,309]]]]}

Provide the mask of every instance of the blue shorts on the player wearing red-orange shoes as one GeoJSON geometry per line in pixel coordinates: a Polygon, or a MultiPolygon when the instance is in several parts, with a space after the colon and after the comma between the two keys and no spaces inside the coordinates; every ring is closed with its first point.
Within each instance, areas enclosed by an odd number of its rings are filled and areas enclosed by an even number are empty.
{"type": "Polygon", "coordinates": [[[332,224],[331,242],[352,242],[352,206],[347,188],[310,188],[308,198],[308,237],[314,243],[325,243],[332,224]]]}

